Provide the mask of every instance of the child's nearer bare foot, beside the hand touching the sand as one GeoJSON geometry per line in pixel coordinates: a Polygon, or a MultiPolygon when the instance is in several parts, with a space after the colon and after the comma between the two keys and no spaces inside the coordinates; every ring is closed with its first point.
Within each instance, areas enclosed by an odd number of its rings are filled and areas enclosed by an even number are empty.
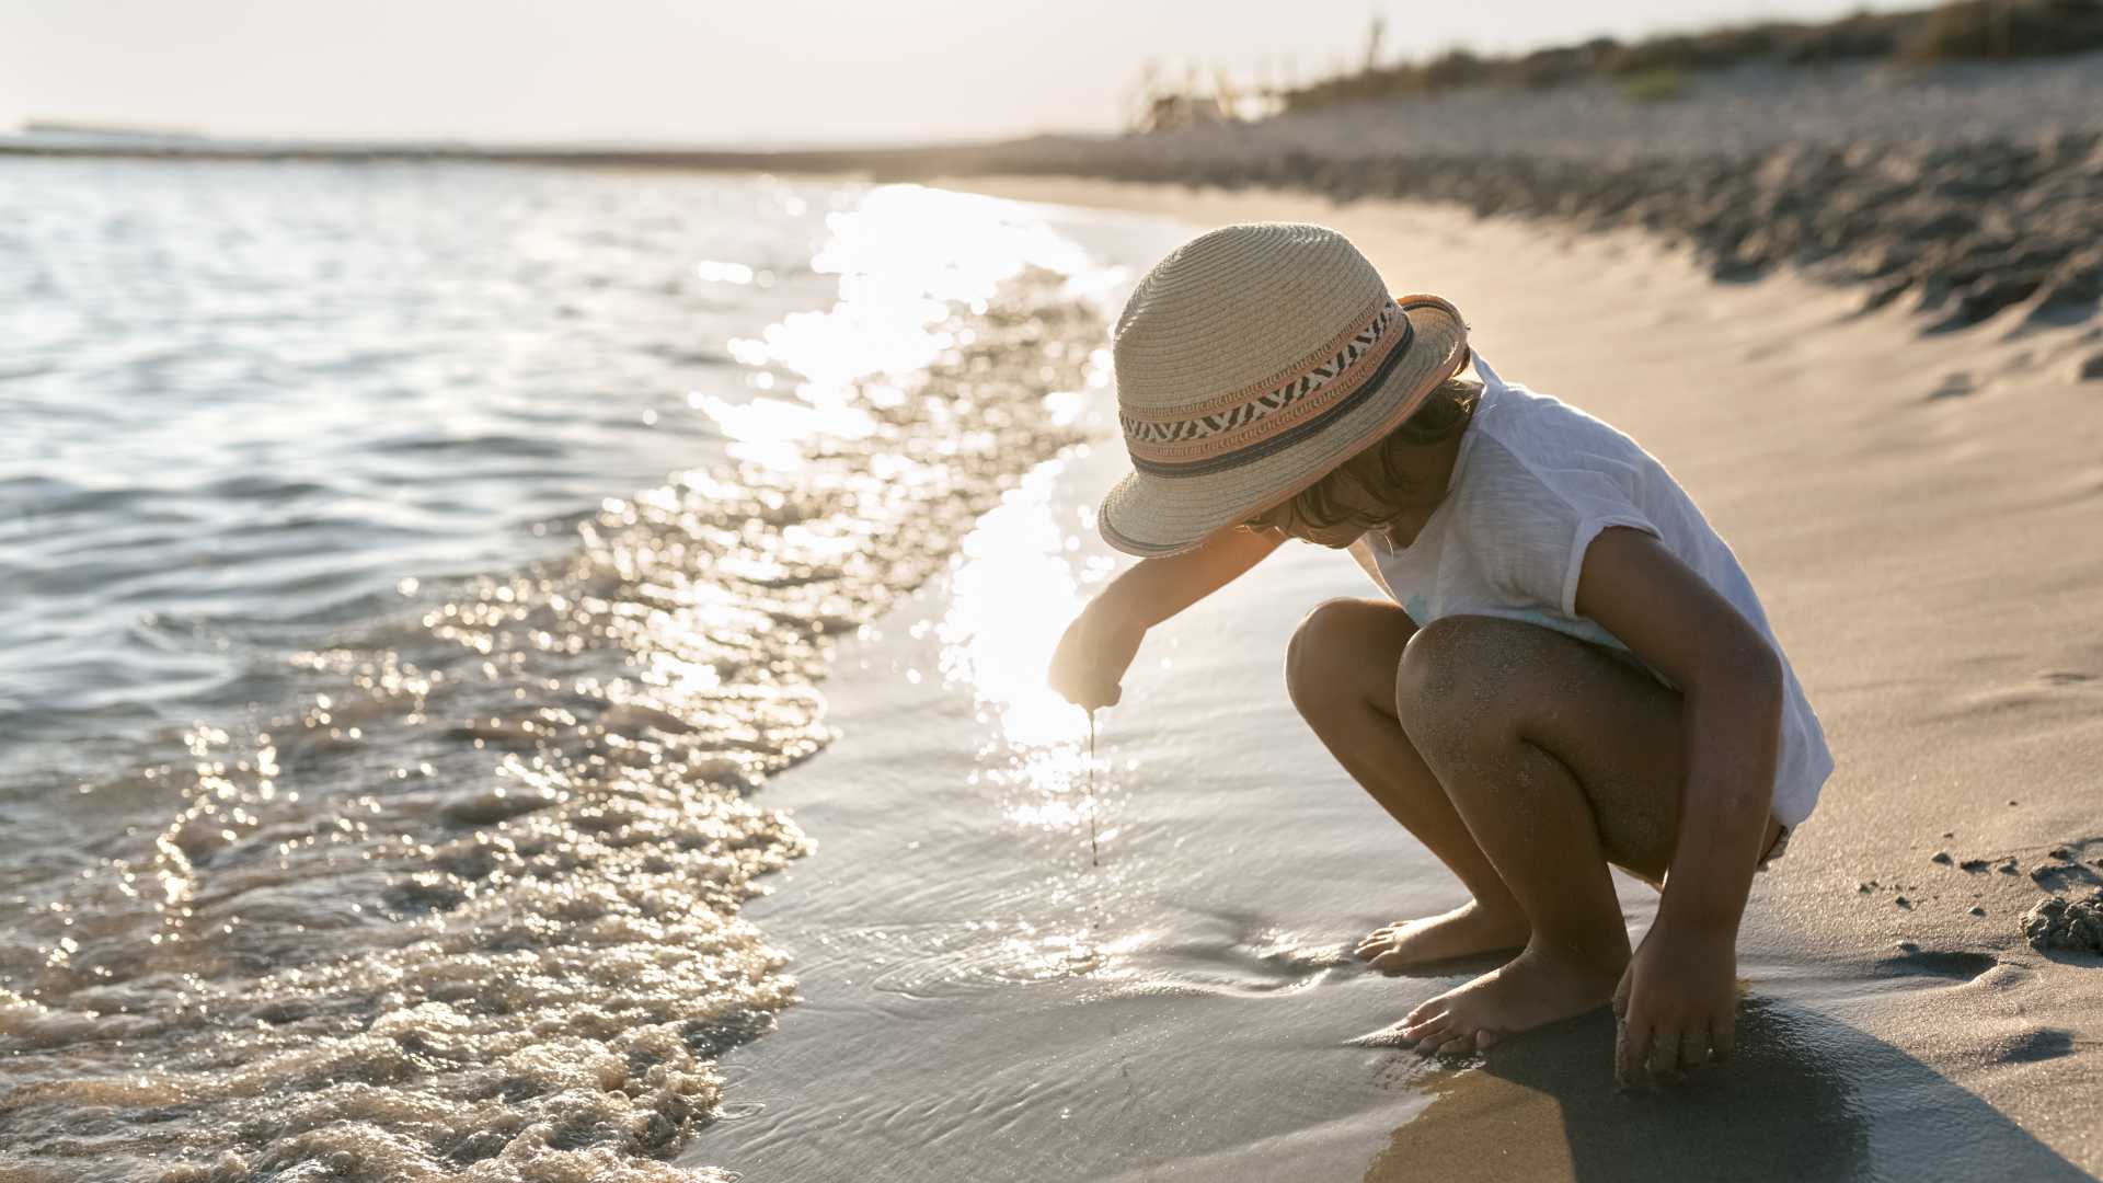
{"type": "Polygon", "coordinates": [[[1411,1010],[1401,1023],[1403,1038],[1420,1052],[1476,1052],[1504,1036],[1605,1006],[1626,966],[1626,949],[1592,964],[1529,945],[1504,966],[1411,1010]]]}

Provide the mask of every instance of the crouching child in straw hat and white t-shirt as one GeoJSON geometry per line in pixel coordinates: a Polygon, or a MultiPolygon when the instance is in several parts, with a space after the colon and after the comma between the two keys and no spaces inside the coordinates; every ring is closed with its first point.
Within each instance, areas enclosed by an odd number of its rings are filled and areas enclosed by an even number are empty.
{"type": "Polygon", "coordinates": [[[1502,381],[1451,303],[1390,299],[1321,225],[1176,248],[1125,303],[1115,358],[1136,472],[1098,524],[1144,562],[1066,629],[1052,684],[1110,705],[1148,627],[1285,539],[1348,547],[1388,600],[1308,613],[1291,701],[1474,895],[1359,956],[1516,949],[1403,1036],[1472,1052],[1611,998],[1621,1080],[1729,1057],[1745,893],[1832,756],[1752,583],[1663,465],[1502,381]],[[1663,890],[1634,956],[1609,863],[1663,890]]]}

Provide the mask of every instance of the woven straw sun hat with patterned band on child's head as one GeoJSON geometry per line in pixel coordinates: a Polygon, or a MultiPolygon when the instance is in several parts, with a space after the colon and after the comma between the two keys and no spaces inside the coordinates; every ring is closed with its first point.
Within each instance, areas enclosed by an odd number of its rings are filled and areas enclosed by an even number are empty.
{"type": "Polygon", "coordinates": [[[1287,501],[1468,360],[1451,303],[1394,299],[1348,238],[1287,221],[1184,242],[1131,290],[1115,335],[1136,472],[1096,524],[1138,556],[1186,552],[1287,501]]]}

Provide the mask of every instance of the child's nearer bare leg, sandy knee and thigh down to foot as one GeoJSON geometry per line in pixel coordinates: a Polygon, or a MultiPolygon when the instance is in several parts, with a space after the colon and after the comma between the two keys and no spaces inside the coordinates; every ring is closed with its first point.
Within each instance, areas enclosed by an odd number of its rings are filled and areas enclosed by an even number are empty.
{"type": "Polygon", "coordinates": [[[1403,1038],[1468,1052],[1607,1004],[1630,956],[1607,863],[1663,876],[1685,775],[1680,697],[1600,648],[1489,617],[1420,629],[1394,695],[1531,928],[1508,964],[1411,1010],[1403,1038]]]}

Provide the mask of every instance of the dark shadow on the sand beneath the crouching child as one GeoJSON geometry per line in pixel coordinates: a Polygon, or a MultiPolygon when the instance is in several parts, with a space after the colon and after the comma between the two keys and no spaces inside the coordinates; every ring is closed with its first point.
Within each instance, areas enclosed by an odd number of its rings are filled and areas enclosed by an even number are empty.
{"type": "Polygon", "coordinates": [[[1495,1050],[1426,1069],[1432,1103],[1369,1183],[2090,1179],[1903,1050],[1773,998],[1745,1002],[1733,1063],[1674,1090],[1613,1084],[1605,1010],[1495,1050]]]}

